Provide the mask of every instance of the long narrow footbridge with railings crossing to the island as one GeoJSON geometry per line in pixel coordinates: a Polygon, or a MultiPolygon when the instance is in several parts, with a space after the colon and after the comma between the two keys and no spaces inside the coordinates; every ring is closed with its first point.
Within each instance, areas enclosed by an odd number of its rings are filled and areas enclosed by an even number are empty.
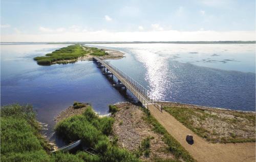
{"type": "Polygon", "coordinates": [[[143,107],[156,108],[162,112],[162,104],[159,100],[150,97],[150,92],[136,82],[132,77],[125,74],[114,65],[101,60],[99,57],[93,57],[93,62],[96,63],[98,68],[104,68],[104,75],[111,75],[112,79],[115,76],[118,79],[118,83],[113,85],[114,87],[124,87],[128,89],[142,104],[143,107]]]}

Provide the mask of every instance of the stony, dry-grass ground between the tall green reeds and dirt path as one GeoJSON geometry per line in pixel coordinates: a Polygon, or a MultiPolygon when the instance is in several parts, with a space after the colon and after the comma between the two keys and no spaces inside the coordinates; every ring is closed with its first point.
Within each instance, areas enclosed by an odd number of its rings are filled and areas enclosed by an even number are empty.
{"type": "Polygon", "coordinates": [[[119,147],[133,151],[143,161],[180,161],[180,157],[169,150],[164,134],[154,131],[155,127],[146,120],[147,115],[140,106],[126,102],[117,104],[117,107],[119,111],[114,115],[112,138],[118,138],[119,147]],[[145,140],[150,147],[144,147],[145,140]]]}

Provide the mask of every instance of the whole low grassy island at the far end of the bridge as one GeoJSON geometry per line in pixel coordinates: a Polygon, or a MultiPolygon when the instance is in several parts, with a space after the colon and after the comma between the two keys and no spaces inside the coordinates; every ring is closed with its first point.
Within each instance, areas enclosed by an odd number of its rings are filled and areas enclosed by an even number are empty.
{"type": "Polygon", "coordinates": [[[38,65],[68,64],[74,63],[79,57],[87,55],[104,56],[108,55],[104,50],[95,47],[84,47],[82,45],[69,45],[46,54],[46,56],[35,57],[38,65]]]}

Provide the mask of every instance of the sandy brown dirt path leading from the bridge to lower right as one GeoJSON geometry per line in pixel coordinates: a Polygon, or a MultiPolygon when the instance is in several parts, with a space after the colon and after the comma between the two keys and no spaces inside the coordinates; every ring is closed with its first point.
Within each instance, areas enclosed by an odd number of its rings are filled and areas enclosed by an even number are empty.
{"type": "Polygon", "coordinates": [[[255,143],[212,144],[197,136],[167,112],[161,113],[153,105],[148,105],[148,109],[197,161],[255,161],[255,143]],[[193,135],[194,144],[186,142],[186,134],[193,135]]]}

